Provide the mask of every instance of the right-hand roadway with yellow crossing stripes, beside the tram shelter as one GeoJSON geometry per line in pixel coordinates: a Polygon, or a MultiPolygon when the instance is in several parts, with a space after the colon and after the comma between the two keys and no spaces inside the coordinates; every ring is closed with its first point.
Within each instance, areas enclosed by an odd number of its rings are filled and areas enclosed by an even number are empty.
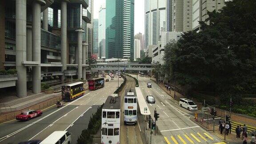
{"type": "MultiPolygon", "coordinates": [[[[136,77],[136,75],[132,75],[136,77]]],[[[156,99],[156,104],[148,104],[151,116],[154,119],[154,110],[156,108],[160,118],[156,121],[162,136],[170,143],[191,144],[191,143],[217,143],[221,142],[219,138],[206,132],[199,125],[195,124],[190,117],[194,112],[181,108],[176,100],[173,100],[163,89],[161,89],[152,80],[138,76],[140,90],[146,100],[147,95],[152,95],[156,99]],[[152,83],[152,88],[147,88],[147,83],[152,83]]],[[[199,112],[197,112],[199,113],[199,112]]],[[[152,143],[158,141],[152,137],[152,143]]]]}

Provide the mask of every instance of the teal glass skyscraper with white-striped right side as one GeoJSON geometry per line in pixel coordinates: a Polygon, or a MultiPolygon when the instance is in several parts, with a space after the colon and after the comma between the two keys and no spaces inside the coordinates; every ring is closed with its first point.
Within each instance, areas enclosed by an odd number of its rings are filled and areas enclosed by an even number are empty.
{"type": "Polygon", "coordinates": [[[134,0],[106,0],[106,59],[134,58],[134,0]]]}

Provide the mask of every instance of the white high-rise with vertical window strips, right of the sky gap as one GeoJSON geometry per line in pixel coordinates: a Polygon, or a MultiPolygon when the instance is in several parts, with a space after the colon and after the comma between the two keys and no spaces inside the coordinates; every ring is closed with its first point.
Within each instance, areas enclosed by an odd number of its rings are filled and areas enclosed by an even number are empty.
{"type": "Polygon", "coordinates": [[[161,32],[166,32],[168,26],[167,15],[171,0],[145,0],[145,48],[156,45],[161,32]],[[168,9],[167,9],[168,8],[168,9]]]}

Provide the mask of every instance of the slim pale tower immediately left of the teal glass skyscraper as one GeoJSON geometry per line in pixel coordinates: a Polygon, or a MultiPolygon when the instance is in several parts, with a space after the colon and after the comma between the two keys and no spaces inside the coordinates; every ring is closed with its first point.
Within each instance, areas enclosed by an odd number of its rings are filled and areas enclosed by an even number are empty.
{"type": "Polygon", "coordinates": [[[106,7],[102,5],[99,11],[98,58],[106,58],[106,7]]]}

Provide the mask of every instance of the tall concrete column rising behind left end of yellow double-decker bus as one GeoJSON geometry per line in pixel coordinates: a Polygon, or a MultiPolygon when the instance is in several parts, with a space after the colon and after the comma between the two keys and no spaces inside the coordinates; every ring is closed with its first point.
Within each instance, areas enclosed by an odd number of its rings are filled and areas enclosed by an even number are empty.
{"type": "MultiPolygon", "coordinates": [[[[60,31],[61,31],[61,71],[67,69],[67,2],[61,1],[61,15],[60,15],[60,31]]],[[[61,76],[61,80],[64,80],[65,76],[61,76]]]]}

